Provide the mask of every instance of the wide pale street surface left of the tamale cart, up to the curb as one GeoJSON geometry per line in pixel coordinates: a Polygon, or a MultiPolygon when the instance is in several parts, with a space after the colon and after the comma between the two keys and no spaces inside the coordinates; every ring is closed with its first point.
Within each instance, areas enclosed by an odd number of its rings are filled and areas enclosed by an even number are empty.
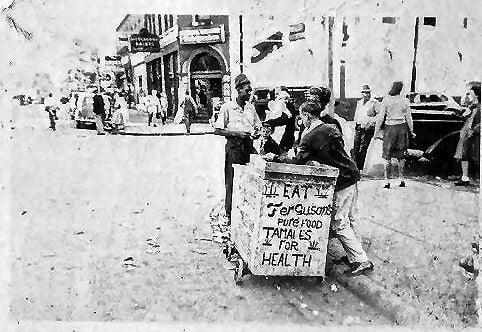
{"type": "Polygon", "coordinates": [[[11,320],[390,323],[329,277],[234,284],[208,219],[222,138],[50,132],[39,110],[10,139],[11,320]]]}

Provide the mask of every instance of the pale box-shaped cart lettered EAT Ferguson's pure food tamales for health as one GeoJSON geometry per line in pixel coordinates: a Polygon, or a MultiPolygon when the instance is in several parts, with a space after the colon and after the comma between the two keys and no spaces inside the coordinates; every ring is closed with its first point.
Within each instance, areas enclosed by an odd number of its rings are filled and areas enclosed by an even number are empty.
{"type": "Polygon", "coordinates": [[[245,274],[325,276],[338,169],[264,161],[234,166],[234,280],[245,274]]]}

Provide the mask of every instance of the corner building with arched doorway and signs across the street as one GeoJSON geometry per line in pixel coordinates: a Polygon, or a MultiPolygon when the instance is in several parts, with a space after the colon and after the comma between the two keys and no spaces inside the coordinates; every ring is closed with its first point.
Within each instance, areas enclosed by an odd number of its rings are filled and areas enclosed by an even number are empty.
{"type": "Polygon", "coordinates": [[[227,15],[127,15],[116,31],[124,43],[118,47],[125,53],[122,62],[131,67],[126,80],[136,94],[140,89],[165,92],[168,116],[175,115],[186,90],[201,106],[199,120],[212,115],[216,99],[230,99],[227,15]],[[142,28],[144,35],[158,37],[158,49],[134,52],[132,39],[142,28]]]}

